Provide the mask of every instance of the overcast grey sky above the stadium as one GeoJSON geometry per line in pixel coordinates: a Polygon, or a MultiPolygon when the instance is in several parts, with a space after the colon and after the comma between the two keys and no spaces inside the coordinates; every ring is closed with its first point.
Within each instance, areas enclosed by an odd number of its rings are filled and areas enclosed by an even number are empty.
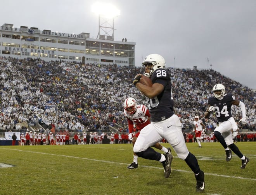
{"type": "Polygon", "coordinates": [[[158,53],[167,67],[212,65],[256,89],[256,0],[8,0],[1,1],[0,26],[88,32],[96,38],[99,18],[91,11],[95,2],[121,10],[114,19],[114,39],[136,43],[136,66],[158,53]]]}

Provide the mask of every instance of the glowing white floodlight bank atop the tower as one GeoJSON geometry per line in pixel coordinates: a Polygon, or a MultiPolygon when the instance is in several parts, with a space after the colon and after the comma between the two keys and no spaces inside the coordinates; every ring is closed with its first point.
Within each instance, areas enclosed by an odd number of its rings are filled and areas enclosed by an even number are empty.
{"type": "Polygon", "coordinates": [[[107,18],[113,18],[120,15],[120,10],[110,3],[95,3],[92,5],[92,12],[107,18]]]}

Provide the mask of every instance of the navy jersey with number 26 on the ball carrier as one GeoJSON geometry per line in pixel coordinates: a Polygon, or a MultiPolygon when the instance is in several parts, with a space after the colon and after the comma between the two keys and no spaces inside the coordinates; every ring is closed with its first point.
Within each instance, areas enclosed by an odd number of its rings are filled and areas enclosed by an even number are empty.
{"type": "Polygon", "coordinates": [[[173,115],[173,95],[171,92],[171,79],[168,72],[159,68],[151,76],[152,83],[159,83],[164,90],[155,98],[149,99],[149,113],[151,121],[162,121],[173,115]]]}

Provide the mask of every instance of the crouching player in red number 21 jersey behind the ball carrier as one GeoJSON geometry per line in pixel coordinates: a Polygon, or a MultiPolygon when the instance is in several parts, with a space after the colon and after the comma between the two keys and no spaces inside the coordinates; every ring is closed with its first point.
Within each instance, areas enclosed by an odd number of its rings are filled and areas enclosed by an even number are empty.
{"type": "MultiPolygon", "coordinates": [[[[136,124],[136,129],[138,131],[147,126],[150,123],[149,109],[147,109],[147,107],[143,104],[137,105],[137,101],[134,98],[126,98],[124,102],[124,108],[124,115],[128,120],[129,139],[132,141],[132,145],[134,145],[137,137],[140,135],[140,132],[136,133],[135,136],[132,137],[133,123],[136,124]]],[[[166,148],[159,143],[156,143],[154,147],[165,152],[166,154],[171,154],[170,148],[166,148]]],[[[133,162],[127,167],[127,169],[137,168],[138,156],[133,152],[133,162]]]]}

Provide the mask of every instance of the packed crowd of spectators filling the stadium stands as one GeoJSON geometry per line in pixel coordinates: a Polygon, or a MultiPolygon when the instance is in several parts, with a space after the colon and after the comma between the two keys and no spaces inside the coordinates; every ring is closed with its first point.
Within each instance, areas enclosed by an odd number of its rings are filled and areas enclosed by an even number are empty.
{"type": "MultiPolygon", "coordinates": [[[[255,129],[256,92],[219,72],[168,68],[173,84],[175,112],[183,130],[192,129],[195,115],[203,119],[207,99],[216,83],[222,83],[246,105],[248,123],[240,129],[255,129]]],[[[28,122],[74,132],[103,132],[116,122],[127,129],[123,101],[127,97],[147,105],[147,99],[133,86],[140,68],[106,64],[44,62],[30,58],[0,57],[0,129],[28,128],[28,122]]],[[[240,109],[232,107],[239,121],[240,109]]],[[[213,130],[215,118],[204,121],[213,130]]]]}

